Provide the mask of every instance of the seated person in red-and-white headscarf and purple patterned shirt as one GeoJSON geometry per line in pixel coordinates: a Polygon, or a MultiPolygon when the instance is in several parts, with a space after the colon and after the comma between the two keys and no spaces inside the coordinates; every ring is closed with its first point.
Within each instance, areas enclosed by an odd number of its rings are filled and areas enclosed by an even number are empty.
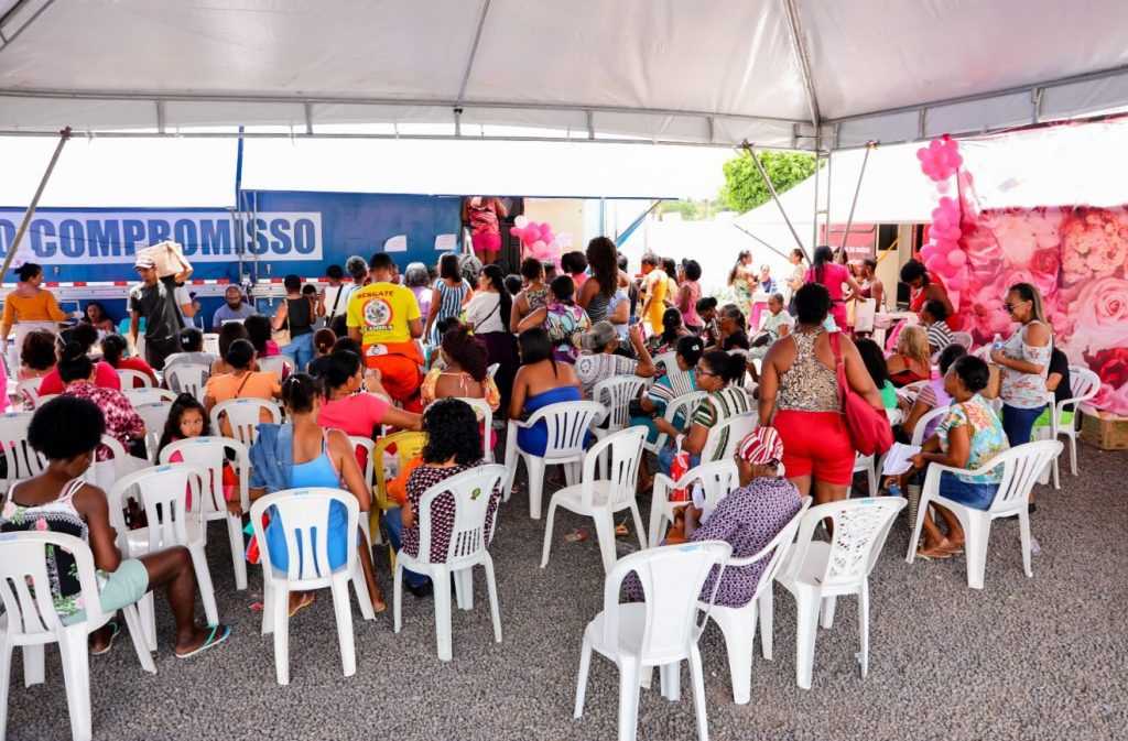
{"type": "MultiPolygon", "coordinates": [[[[667,536],[668,544],[723,540],[732,546],[733,558],[747,558],[763,550],[799,513],[802,508],[799,489],[779,476],[783,441],[773,427],[754,430],[740,442],[735,459],[740,487],[725,495],[712,512],[702,512],[693,504],[686,505],[677,514],[667,536]],[[700,527],[695,527],[702,519],[700,527]]],[[[768,562],[770,558],[760,558],[747,566],[725,568],[721,584],[716,586],[716,605],[748,605],[756,594],[768,562]]],[[[702,599],[712,597],[716,571],[714,567],[702,586],[702,599]]],[[[637,576],[628,575],[624,585],[628,599],[643,599],[637,576]]]]}

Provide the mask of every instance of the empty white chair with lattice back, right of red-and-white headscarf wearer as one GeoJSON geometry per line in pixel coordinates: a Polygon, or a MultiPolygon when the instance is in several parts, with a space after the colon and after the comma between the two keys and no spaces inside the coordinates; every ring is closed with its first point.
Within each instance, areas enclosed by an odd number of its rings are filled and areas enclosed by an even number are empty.
{"type": "Polygon", "coordinates": [[[866,496],[812,506],[800,523],[799,539],[787,563],[776,576],[795,598],[795,680],[811,689],[814,639],[822,627],[830,628],[835,601],[844,594],[857,596],[862,650],[857,653],[862,678],[870,670],[870,572],[885,545],[890,526],[907,502],[900,496],[866,496]],[[814,529],[829,519],[834,535],[829,542],[814,539],[814,529]]]}

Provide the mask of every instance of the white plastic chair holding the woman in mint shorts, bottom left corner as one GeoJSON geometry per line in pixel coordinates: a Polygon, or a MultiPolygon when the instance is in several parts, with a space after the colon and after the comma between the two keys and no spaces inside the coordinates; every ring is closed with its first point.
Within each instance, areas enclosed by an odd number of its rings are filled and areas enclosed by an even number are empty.
{"type": "MultiPolygon", "coordinates": [[[[7,738],[12,651],[19,646],[24,652],[24,686],[42,685],[45,679],[43,647],[49,643],[59,644],[71,738],[74,741],[91,738],[87,637],[114,617],[102,611],[94,573],[94,555],[79,538],[51,531],[0,535],[0,600],[6,612],[0,617],[0,739],[7,738]],[[63,625],[55,612],[47,575],[47,548],[65,550],[74,558],[74,573],[81,585],[79,597],[86,607],[86,619],[80,623],[63,625]]],[[[157,667],[141,635],[136,606],[122,608],[122,614],[141,668],[156,673],[157,667]]]]}

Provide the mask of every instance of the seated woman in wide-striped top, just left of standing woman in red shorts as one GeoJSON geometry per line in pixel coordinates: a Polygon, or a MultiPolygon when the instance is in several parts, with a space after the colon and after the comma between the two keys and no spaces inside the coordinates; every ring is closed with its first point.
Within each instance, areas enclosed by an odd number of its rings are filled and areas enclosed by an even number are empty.
{"type": "MultiPolygon", "coordinates": [[[[681,441],[680,450],[689,453],[690,468],[703,462],[702,451],[710,430],[730,417],[752,411],[748,394],[739,386],[744,377],[744,359],[741,355],[730,355],[723,350],[707,352],[697,363],[696,376],[697,389],[707,391],[708,396],[694,409],[689,431],[681,441]]],[[[678,430],[673,432],[681,434],[678,430]]],[[[670,473],[673,457],[679,452],[673,446],[672,436],[670,443],[658,452],[658,467],[663,474],[670,473]]],[[[723,450],[725,443],[726,440],[722,438],[719,450],[723,450]]]]}

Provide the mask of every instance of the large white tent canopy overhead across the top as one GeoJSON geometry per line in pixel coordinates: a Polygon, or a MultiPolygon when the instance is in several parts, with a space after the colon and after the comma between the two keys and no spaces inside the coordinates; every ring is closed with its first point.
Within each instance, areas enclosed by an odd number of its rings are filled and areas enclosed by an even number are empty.
{"type": "Polygon", "coordinates": [[[1122,0],[0,0],[0,133],[846,148],[1123,106],[1125,27],[1122,0]]]}

